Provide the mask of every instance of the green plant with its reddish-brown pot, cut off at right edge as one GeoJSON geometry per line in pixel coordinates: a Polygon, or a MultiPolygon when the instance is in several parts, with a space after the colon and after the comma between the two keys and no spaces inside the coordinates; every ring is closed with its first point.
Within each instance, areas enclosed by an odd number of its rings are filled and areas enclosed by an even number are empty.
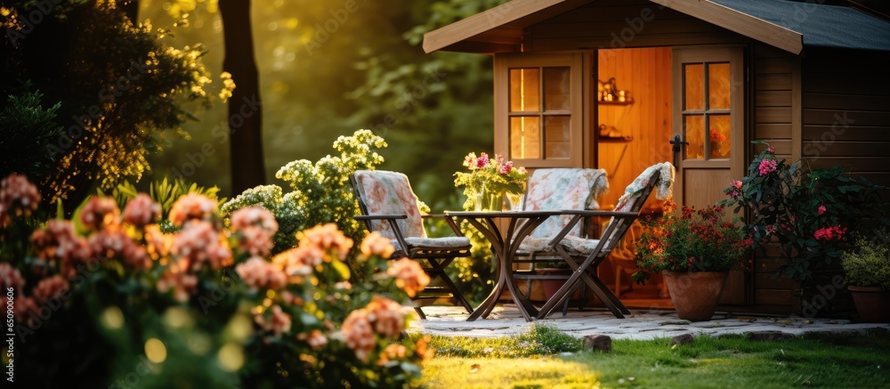
{"type": "Polygon", "coordinates": [[[878,229],[872,239],[860,237],[840,256],[847,289],[864,322],[890,322],[890,231],[878,229]]]}

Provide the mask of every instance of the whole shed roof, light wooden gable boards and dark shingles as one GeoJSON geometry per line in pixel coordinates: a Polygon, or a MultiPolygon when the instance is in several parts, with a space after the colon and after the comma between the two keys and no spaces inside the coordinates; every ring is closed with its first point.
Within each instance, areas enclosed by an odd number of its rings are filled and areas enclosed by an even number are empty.
{"type": "MultiPolygon", "coordinates": [[[[890,51],[890,21],[853,8],[789,0],[651,0],[799,54],[804,45],[890,51]]],[[[428,32],[424,50],[519,51],[522,30],[595,0],[513,0],[428,32]]]]}

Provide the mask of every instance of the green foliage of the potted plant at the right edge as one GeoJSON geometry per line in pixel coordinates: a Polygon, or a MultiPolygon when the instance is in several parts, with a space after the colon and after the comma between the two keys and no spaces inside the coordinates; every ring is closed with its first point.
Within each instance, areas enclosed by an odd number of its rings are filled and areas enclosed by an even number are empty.
{"type": "Polygon", "coordinates": [[[881,228],[872,239],[860,237],[840,255],[846,283],[855,287],[890,290],[890,230],[881,228]]]}

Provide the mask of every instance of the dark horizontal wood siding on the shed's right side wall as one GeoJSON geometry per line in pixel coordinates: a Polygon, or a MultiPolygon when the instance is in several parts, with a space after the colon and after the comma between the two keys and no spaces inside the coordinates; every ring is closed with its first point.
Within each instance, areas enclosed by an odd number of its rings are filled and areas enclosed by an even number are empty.
{"type": "MultiPolygon", "coordinates": [[[[890,54],[810,50],[802,64],[803,156],[890,184],[890,54]]],[[[884,198],[890,193],[885,192],[884,198]]]]}

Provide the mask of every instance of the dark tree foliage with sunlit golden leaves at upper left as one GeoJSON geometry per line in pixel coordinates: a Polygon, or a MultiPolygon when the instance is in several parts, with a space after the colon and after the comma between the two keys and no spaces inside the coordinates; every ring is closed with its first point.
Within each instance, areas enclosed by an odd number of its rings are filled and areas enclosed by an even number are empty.
{"type": "Polygon", "coordinates": [[[64,134],[36,137],[27,146],[55,163],[40,182],[45,201],[69,199],[66,204],[76,206],[95,183],[109,189],[123,177],[139,179],[149,168],[148,154],[158,150],[158,136],[189,118],[180,99],[206,101],[211,80],[199,61],[203,47],[166,45],[169,31],[134,24],[115,2],[55,3],[0,2],[7,37],[0,45],[0,93],[39,91],[44,104],[60,104],[53,120],[64,134]]]}

